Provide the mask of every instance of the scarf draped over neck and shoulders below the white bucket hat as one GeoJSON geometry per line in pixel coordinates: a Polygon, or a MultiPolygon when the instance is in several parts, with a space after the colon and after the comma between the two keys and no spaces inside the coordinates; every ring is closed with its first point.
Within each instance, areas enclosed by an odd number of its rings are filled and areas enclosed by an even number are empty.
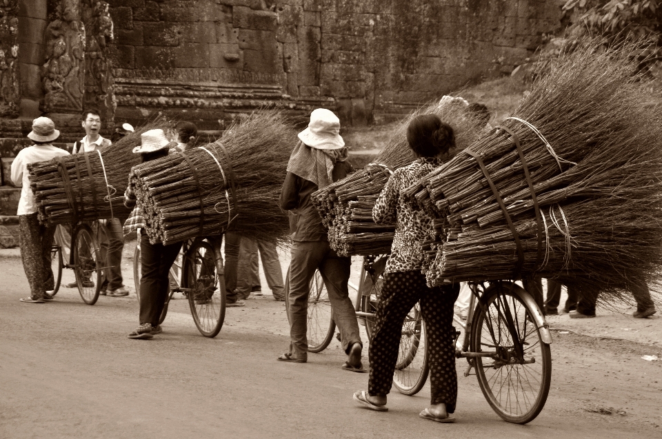
{"type": "Polygon", "coordinates": [[[299,142],[288,162],[288,172],[304,180],[312,181],[319,189],[333,183],[333,166],[345,161],[348,156],[346,147],[339,150],[318,150],[299,142]]]}

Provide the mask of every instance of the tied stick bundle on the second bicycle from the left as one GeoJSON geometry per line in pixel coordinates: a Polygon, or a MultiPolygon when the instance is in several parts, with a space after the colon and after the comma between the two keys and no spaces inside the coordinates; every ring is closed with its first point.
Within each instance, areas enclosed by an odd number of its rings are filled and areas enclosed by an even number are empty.
{"type": "Polygon", "coordinates": [[[219,234],[229,223],[243,236],[284,242],[290,230],[278,199],[296,141],[281,112],[259,110],[214,143],[134,167],[130,181],[150,242],[219,234]]]}

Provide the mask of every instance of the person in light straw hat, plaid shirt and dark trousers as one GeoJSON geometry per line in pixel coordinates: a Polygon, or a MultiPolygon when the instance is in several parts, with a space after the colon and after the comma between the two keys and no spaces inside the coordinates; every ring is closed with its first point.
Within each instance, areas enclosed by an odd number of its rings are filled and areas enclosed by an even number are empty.
{"type": "MultiPolygon", "coordinates": [[[[142,161],[161,159],[168,155],[168,150],[177,145],[168,141],[163,130],[148,130],[140,136],[140,145],[134,147],[134,154],[141,154],[142,161]]],[[[163,243],[150,243],[144,231],[145,222],[136,205],[135,188],[131,181],[124,192],[124,205],[133,207],[133,212],[124,224],[124,232],[128,234],[133,229],[141,228],[140,240],[140,314],[139,325],[128,337],[149,339],[162,332],[159,317],[163,312],[165,299],[168,296],[168,272],[170,266],[179,254],[181,243],[163,245],[163,243]]]]}

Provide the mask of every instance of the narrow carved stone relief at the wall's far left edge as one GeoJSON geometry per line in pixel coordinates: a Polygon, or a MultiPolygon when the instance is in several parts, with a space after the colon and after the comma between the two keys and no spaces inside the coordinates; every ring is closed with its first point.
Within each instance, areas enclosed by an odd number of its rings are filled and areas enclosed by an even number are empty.
{"type": "Polygon", "coordinates": [[[19,81],[17,77],[19,45],[16,17],[18,0],[0,2],[0,116],[19,115],[19,81]]]}

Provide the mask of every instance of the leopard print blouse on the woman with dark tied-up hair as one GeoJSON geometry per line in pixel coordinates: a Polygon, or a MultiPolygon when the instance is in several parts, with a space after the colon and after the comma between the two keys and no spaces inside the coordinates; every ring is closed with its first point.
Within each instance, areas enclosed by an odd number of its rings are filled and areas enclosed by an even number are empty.
{"type": "Polygon", "coordinates": [[[378,224],[396,223],[391,256],[385,273],[420,270],[423,262],[422,244],[432,236],[432,218],[412,203],[403,200],[400,192],[416,183],[441,161],[433,157],[421,157],[396,170],[386,182],[372,208],[372,219],[378,224]]]}

